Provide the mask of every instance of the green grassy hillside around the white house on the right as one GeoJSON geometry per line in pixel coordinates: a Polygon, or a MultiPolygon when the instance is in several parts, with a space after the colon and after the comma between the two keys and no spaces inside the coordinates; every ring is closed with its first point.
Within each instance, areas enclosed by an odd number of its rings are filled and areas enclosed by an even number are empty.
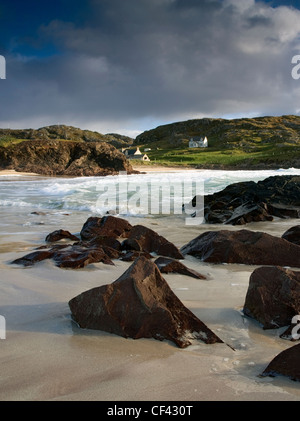
{"type": "Polygon", "coordinates": [[[199,119],[159,126],[137,136],[152,164],[203,168],[300,167],[300,117],[199,119]],[[208,148],[189,149],[193,136],[208,148]]]}

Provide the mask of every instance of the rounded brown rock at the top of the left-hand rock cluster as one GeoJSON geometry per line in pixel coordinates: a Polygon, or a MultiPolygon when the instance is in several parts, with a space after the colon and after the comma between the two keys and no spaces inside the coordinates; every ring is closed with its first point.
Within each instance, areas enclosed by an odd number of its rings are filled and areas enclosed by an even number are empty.
{"type": "Polygon", "coordinates": [[[93,217],[87,219],[84,223],[80,236],[83,240],[92,240],[100,236],[108,237],[127,237],[132,225],[125,219],[112,215],[106,215],[102,218],[93,217]]]}

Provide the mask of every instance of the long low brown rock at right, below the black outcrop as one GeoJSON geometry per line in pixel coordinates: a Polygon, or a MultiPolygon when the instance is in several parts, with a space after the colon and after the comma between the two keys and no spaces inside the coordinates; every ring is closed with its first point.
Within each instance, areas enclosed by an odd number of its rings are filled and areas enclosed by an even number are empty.
{"type": "Polygon", "coordinates": [[[211,263],[300,267],[300,246],[259,231],[207,231],[181,248],[211,263]]]}

